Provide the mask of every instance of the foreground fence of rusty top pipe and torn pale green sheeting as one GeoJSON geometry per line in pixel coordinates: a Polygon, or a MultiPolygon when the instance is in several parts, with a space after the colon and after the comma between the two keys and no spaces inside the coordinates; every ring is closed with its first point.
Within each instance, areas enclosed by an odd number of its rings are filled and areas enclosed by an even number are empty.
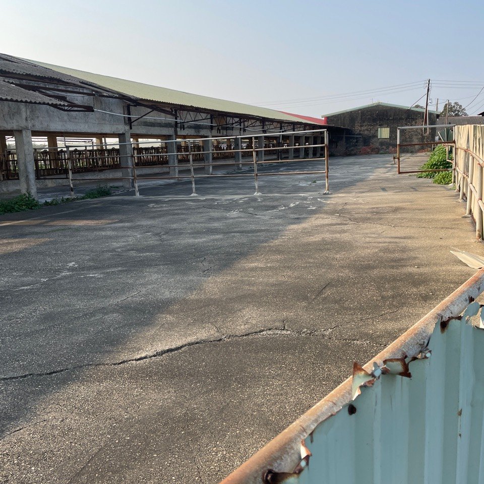
{"type": "Polygon", "coordinates": [[[484,482],[484,269],[222,484],[484,482]]]}

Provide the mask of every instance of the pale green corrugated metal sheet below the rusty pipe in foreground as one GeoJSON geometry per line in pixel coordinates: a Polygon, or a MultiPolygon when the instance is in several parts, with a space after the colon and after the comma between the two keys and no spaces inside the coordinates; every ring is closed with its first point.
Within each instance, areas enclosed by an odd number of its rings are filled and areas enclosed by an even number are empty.
{"type": "Polygon", "coordinates": [[[437,326],[412,378],[383,375],[306,440],[299,484],[484,484],[484,330],[437,326]]]}

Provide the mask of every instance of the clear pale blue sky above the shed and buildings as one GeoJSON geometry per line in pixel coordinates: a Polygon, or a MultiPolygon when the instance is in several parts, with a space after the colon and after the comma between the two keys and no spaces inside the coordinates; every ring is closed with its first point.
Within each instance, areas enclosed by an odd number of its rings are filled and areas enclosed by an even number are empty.
{"type": "MultiPolygon", "coordinates": [[[[465,106],[484,86],[484,7],[476,0],[1,6],[3,53],[313,116],[372,100],[410,105],[428,78],[433,107],[437,98],[465,106]],[[367,92],[336,97],[355,91],[367,92]]],[[[479,110],[484,90],[468,113],[479,110]]]]}

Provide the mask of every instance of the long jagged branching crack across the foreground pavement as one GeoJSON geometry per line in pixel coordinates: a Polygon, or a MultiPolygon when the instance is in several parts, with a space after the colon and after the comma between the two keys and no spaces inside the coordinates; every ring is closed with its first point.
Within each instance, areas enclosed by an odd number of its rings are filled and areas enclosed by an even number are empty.
{"type": "MultiPolygon", "coordinates": [[[[386,316],[389,314],[393,314],[399,311],[398,309],[394,311],[389,311],[373,316],[369,316],[367,318],[360,318],[359,321],[368,321],[371,319],[376,319],[382,316],[386,316]]],[[[328,339],[333,339],[333,340],[341,340],[341,341],[352,341],[356,343],[369,343],[369,341],[364,341],[364,340],[352,340],[348,338],[335,338],[333,336],[329,336],[329,334],[335,330],[336,328],[339,328],[340,326],[344,326],[346,324],[352,323],[353,320],[350,321],[345,321],[343,323],[339,323],[335,326],[332,326],[330,328],[325,328],[325,329],[320,329],[320,330],[292,330],[292,329],[287,329],[286,328],[286,320],[282,320],[282,326],[278,327],[273,327],[273,328],[263,328],[259,329],[256,331],[250,331],[248,333],[243,333],[243,334],[222,334],[222,332],[217,328],[217,331],[220,332],[221,336],[217,338],[205,338],[205,339],[199,339],[196,341],[188,341],[187,343],[183,343],[177,346],[173,346],[171,348],[165,348],[159,351],[154,351],[153,353],[148,353],[144,354],[141,356],[133,357],[133,358],[126,358],[120,361],[112,361],[112,362],[107,362],[107,363],[85,363],[82,365],[75,365],[73,367],[67,367],[67,368],[58,368],[56,370],[51,370],[49,372],[38,372],[38,373],[24,373],[22,375],[12,375],[12,376],[7,376],[7,377],[1,377],[0,382],[7,382],[11,380],[22,380],[25,378],[32,378],[32,377],[47,377],[47,376],[52,376],[52,375],[58,375],[61,373],[66,373],[66,372],[71,372],[75,370],[80,370],[83,368],[99,368],[99,367],[117,367],[120,365],[125,365],[127,363],[134,363],[138,361],[144,361],[147,359],[151,358],[158,358],[160,356],[164,356],[165,354],[170,354],[174,353],[177,351],[180,351],[185,348],[189,348],[190,346],[198,346],[202,344],[208,344],[208,343],[219,343],[222,341],[230,341],[232,339],[239,339],[239,338],[247,338],[247,337],[253,337],[253,336],[273,336],[273,335],[288,335],[288,336],[323,336],[328,339]]]]}

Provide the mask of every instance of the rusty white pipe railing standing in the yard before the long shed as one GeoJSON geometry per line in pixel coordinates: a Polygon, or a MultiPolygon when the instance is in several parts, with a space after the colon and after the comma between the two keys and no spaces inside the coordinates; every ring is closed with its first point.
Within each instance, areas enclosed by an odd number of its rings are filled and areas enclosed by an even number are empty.
{"type": "MultiPolygon", "coordinates": [[[[282,142],[280,143],[281,146],[270,146],[270,147],[264,147],[264,146],[258,146],[256,148],[256,140],[263,139],[264,137],[274,137],[274,134],[265,134],[265,135],[257,135],[257,136],[231,136],[231,137],[216,137],[216,138],[197,138],[197,139],[172,139],[172,140],[162,140],[160,141],[161,144],[166,145],[166,151],[163,153],[164,157],[170,157],[174,156],[177,157],[180,153],[177,151],[177,144],[178,143],[185,143],[188,147],[188,161],[189,161],[189,167],[190,167],[190,174],[189,175],[181,175],[178,173],[178,168],[180,167],[186,167],[187,165],[178,165],[175,163],[174,165],[172,164],[159,164],[159,165],[150,165],[149,168],[167,168],[169,167],[170,169],[175,170],[175,174],[167,174],[167,175],[148,175],[148,176],[143,176],[143,180],[161,180],[161,179],[187,179],[190,178],[192,182],[192,196],[197,196],[196,192],[196,183],[195,180],[198,178],[207,178],[207,177],[240,177],[240,176],[250,176],[254,177],[254,183],[255,183],[255,195],[260,194],[259,190],[259,177],[260,176],[287,176],[287,175],[307,175],[307,174],[324,174],[325,175],[325,194],[329,193],[329,136],[328,136],[328,131],[325,129],[322,130],[311,130],[311,131],[294,131],[294,132],[285,132],[285,133],[280,133],[277,135],[277,137],[280,137],[282,140],[283,136],[305,136],[305,135],[310,135],[312,137],[324,137],[324,143],[313,143],[309,145],[288,145],[288,144],[283,144],[282,142]],[[253,169],[253,172],[251,173],[217,173],[213,174],[212,170],[213,167],[220,167],[224,165],[234,165],[234,162],[212,162],[212,156],[210,156],[210,161],[207,162],[197,162],[198,160],[194,160],[195,156],[200,159],[200,156],[203,156],[205,154],[215,154],[218,153],[216,147],[214,146],[214,141],[218,140],[235,140],[235,139],[244,139],[244,140],[251,140],[252,141],[252,147],[247,147],[247,148],[238,148],[236,149],[235,146],[230,148],[230,152],[235,153],[240,153],[240,159],[235,161],[235,164],[241,168],[243,165],[249,166],[250,168],[253,169]],[[203,143],[204,144],[204,149],[200,150],[200,145],[197,144],[196,148],[194,146],[195,143],[203,143]],[[209,149],[205,149],[205,146],[208,146],[209,149]],[[315,157],[310,156],[309,158],[304,157],[304,150],[310,149],[310,154],[314,154],[314,149],[317,149],[317,155],[315,157]],[[320,155],[321,149],[324,149],[324,156],[320,155]],[[264,153],[266,151],[270,151],[271,153],[274,153],[274,151],[288,151],[293,153],[293,150],[300,150],[302,153],[302,156],[296,159],[277,159],[277,160],[258,160],[258,153],[264,153]],[[251,154],[252,155],[252,160],[251,161],[243,161],[241,158],[244,156],[244,154],[251,154]],[[319,155],[319,156],[318,156],[319,155]],[[304,170],[294,170],[294,171],[285,171],[285,172],[276,172],[276,171],[271,171],[271,172],[265,172],[265,171],[260,171],[259,166],[264,165],[264,164],[275,164],[275,163],[292,163],[292,162],[302,162],[302,161],[318,161],[318,160],[324,160],[324,169],[320,170],[311,170],[311,171],[304,171],[304,170]],[[201,167],[209,167],[209,173],[195,173],[195,168],[201,168],[201,167]]],[[[152,140],[149,141],[139,141],[137,144],[146,144],[146,143],[151,143],[153,144],[152,140]]],[[[241,145],[241,143],[239,143],[241,145]]],[[[129,145],[132,146],[132,143],[112,143],[112,145],[122,147],[123,145],[129,145]]],[[[70,191],[71,191],[71,196],[74,197],[74,182],[75,181],[85,181],[85,180],[132,180],[134,189],[135,189],[135,194],[136,196],[139,196],[139,187],[138,187],[138,173],[137,169],[140,168],[140,166],[137,167],[137,159],[143,159],[146,155],[141,153],[138,154],[136,152],[131,151],[131,154],[121,154],[119,153],[118,155],[106,155],[104,158],[110,158],[110,157],[116,157],[121,160],[121,166],[116,167],[116,168],[106,168],[103,171],[109,171],[112,169],[122,169],[122,170],[129,170],[130,174],[128,176],[122,175],[122,176],[112,176],[112,177],[102,177],[102,178],[88,178],[88,177],[82,177],[82,178],[75,178],[73,174],[73,148],[86,148],[87,145],[79,145],[79,146],[66,146],[66,160],[67,160],[67,175],[69,179],[69,186],[70,186],[70,191]],[[129,163],[123,163],[123,161],[126,160],[126,158],[130,158],[129,163]]],[[[89,147],[93,147],[93,149],[97,145],[92,145],[90,144],[89,147]]],[[[105,147],[106,145],[104,145],[105,147]]],[[[49,149],[49,148],[46,148],[49,149]]],[[[185,153],[186,154],[186,153],[185,153]]],[[[141,166],[143,167],[143,166],[141,166]]]]}

